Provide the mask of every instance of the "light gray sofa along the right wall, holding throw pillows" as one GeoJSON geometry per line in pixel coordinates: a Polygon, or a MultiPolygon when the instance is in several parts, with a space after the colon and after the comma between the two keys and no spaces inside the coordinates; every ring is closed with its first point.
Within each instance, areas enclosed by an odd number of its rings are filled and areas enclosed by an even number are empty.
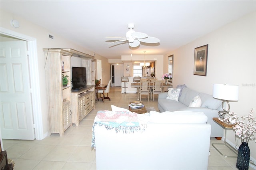
{"type": "Polygon", "coordinates": [[[167,92],[160,93],[158,95],[158,109],[160,112],[164,111],[200,111],[203,112],[207,117],[207,123],[212,126],[211,137],[222,137],[223,128],[215,123],[212,118],[219,117],[218,111],[222,110],[222,101],[214,99],[211,95],[200,93],[189,89],[187,87],[182,88],[178,101],[166,99],[167,92]],[[201,107],[188,107],[190,102],[196,97],[200,96],[202,105],[201,107]]]}

